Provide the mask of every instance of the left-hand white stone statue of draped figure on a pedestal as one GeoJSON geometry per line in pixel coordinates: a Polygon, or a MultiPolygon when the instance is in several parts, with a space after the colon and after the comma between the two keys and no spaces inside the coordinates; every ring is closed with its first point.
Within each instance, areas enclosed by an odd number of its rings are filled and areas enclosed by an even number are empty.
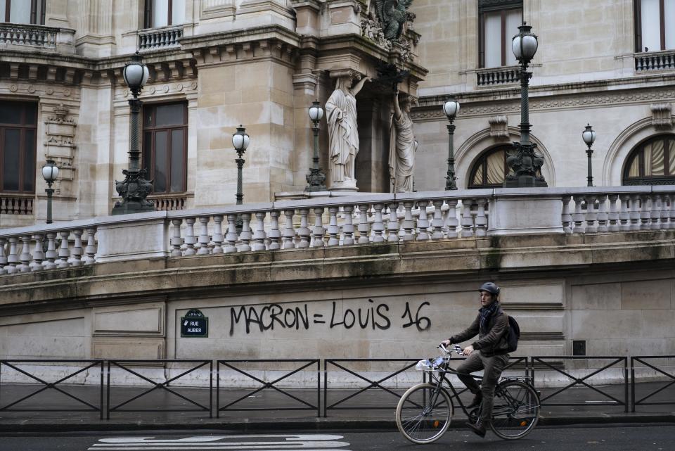
{"type": "Polygon", "coordinates": [[[354,160],[359,153],[359,127],[356,124],[356,94],[371,77],[364,77],[352,87],[352,76],[338,77],[335,91],[326,102],[330,189],[356,191],[354,160]]]}

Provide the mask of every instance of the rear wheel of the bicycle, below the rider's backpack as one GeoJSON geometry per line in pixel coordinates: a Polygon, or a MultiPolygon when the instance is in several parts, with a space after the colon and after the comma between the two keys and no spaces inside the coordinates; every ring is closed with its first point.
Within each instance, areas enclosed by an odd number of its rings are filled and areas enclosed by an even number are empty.
{"type": "Polygon", "coordinates": [[[492,431],[504,440],[527,436],[539,421],[539,396],[522,381],[503,381],[495,390],[492,431]]]}

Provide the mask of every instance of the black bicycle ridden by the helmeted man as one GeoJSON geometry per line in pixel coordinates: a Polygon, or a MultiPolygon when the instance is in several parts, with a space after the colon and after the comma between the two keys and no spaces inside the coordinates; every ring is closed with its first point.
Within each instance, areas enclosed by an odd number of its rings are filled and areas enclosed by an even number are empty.
{"type": "MultiPolygon", "coordinates": [[[[475,422],[480,416],[480,407],[469,411],[459,398],[463,390],[458,392],[446,377],[447,374],[458,374],[450,367],[453,350],[448,350],[443,345],[439,345],[438,348],[445,355],[429,362],[428,369],[425,365],[421,368],[428,371],[430,382],[419,383],[409,388],[401,396],[396,407],[396,424],[399,431],[413,443],[432,443],[441,438],[450,426],[454,414],[453,398],[469,421],[475,422]],[[444,388],[444,381],[452,395],[444,388]]],[[[454,352],[463,355],[457,345],[454,352]]],[[[425,361],[420,361],[420,364],[423,362],[425,361]]],[[[473,374],[471,376],[482,379],[481,376],[473,374]]],[[[490,428],[496,436],[505,440],[523,438],[536,426],[539,420],[539,407],[539,395],[529,382],[529,378],[501,378],[494,390],[490,428]]]]}

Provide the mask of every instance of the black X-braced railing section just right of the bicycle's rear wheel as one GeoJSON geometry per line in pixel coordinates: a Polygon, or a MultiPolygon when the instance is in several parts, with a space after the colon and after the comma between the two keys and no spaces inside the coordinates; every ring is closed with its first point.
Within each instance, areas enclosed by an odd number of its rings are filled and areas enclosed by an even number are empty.
{"type": "Polygon", "coordinates": [[[540,401],[541,405],[547,405],[547,406],[575,406],[575,405],[583,405],[588,407],[589,405],[618,405],[618,406],[623,406],[624,407],[624,412],[628,412],[628,385],[629,385],[629,378],[628,378],[628,357],[579,357],[579,356],[558,356],[558,357],[530,357],[530,362],[531,362],[531,369],[530,372],[532,374],[532,381],[533,385],[536,386],[536,377],[535,377],[535,367],[536,364],[539,363],[541,364],[542,367],[548,369],[548,370],[553,370],[556,371],[557,373],[563,374],[563,376],[566,376],[567,378],[572,380],[572,383],[567,384],[563,388],[560,388],[558,390],[555,390],[553,393],[546,393],[546,395],[541,395],[540,401]],[[586,376],[583,377],[576,377],[572,376],[569,372],[567,372],[565,369],[555,366],[554,364],[551,364],[550,362],[546,362],[546,360],[554,360],[554,361],[560,361],[560,360],[611,360],[610,363],[606,364],[604,367],[600,369],[595,369],[595,371],[592,371],[589,374],[586,374],[586,376]],[[591,377],[595,376],[596,374],[600,374],[603,371],[606,371],[608,369],[612,369],[612,367],[615,367],[617,364],[622,364],[623,368],[623,386],[624,386],[624,399],[619,399],[616,398],[615,396],[610,395],[607,393],[605,390],[600,390],[600,388],[596,386],[592,386],[588,381],[591,377]],[[555,395],[558,395],[560,393],[563,393],[565,390],[569,390],[572,387],[576,386],[584,386],[586,388],[589,388],[590,390],[593,390],[594,392],[600,394],[603,396],[603,399],[601,401],[593,401],[589,402],[588,400],[580,401],[580,402],[551,402],[551,398],[553,398],[555,395]]]}

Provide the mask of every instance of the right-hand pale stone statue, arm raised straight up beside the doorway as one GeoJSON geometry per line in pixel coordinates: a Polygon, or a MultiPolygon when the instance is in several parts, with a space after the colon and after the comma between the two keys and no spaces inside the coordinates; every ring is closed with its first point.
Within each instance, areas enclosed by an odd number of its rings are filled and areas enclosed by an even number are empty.
{"type": "Polygon", "coordinates": [[[413,120],[410,118],[411,107],[412,99],[408,97],[401,108],[399,91],[394,91],[394,115],[392,115],[389,141],[389,174],[392,180],[392,193],[413,191],[417,141],[413,134],[413,120]]]}

